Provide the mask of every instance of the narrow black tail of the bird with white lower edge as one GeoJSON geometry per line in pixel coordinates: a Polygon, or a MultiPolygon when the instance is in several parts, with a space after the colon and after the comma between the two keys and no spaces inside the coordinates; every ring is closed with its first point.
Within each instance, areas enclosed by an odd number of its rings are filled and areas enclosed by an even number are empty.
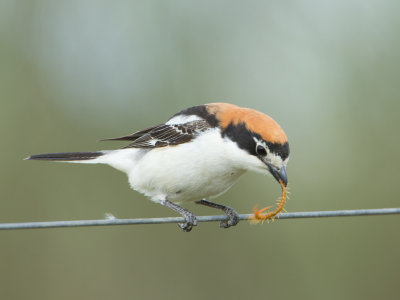
{"type": "Polygon", "coordinates": [[[106,151],[97,152],[61,152],[31,155],[26,160],[48,160],[76,163],[98,163],[97,158],[106,154],[106,151]]]}

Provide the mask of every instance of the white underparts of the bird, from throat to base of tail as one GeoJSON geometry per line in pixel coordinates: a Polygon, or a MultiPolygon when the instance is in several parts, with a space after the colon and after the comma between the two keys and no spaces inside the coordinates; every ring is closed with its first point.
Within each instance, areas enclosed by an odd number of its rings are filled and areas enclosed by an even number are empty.
{"type": "Polygon", "coordinates": [[[105,152],[93,162],[127,173],[131,187],[156,202],[212,198],[228,190],[248,169],[266,172],[255,156],[221,139],[219,130],[178,146],[105,152]]]}

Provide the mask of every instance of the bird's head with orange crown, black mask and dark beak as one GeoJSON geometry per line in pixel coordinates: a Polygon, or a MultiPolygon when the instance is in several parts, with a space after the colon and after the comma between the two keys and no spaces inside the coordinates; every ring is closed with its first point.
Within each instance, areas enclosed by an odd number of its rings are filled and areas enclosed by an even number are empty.
{"type": "Polygon", "coordinates": [[[289,143],[278,123],[259,111],[228,103],[208,104],[207,111],[215,116],[222,134],[247,152],[248,169],[269,171],[287,185],[289,143]]]}

